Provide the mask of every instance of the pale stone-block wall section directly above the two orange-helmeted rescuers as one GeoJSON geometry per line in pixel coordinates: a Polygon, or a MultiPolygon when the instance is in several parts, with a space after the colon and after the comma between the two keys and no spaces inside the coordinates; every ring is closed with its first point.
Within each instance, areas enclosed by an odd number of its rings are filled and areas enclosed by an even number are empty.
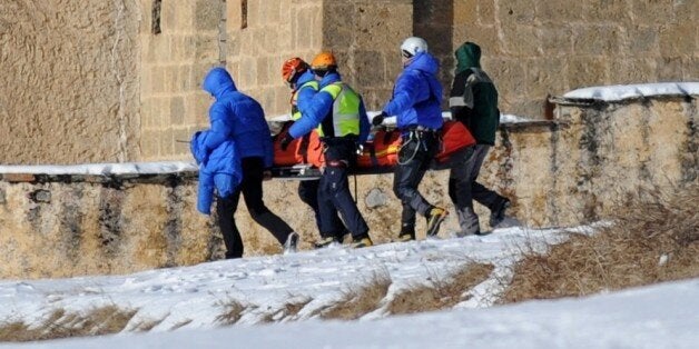
{"type": "Polygon", "coordinates": [[[227,68],[238,89],[257,99],[267,116],[289,112],[291,90],[282,63],[311,61],[323,46],[323,0],[227,1],[227,68]],[[245,11],[244,11],[245,10],[245,11]]]}

